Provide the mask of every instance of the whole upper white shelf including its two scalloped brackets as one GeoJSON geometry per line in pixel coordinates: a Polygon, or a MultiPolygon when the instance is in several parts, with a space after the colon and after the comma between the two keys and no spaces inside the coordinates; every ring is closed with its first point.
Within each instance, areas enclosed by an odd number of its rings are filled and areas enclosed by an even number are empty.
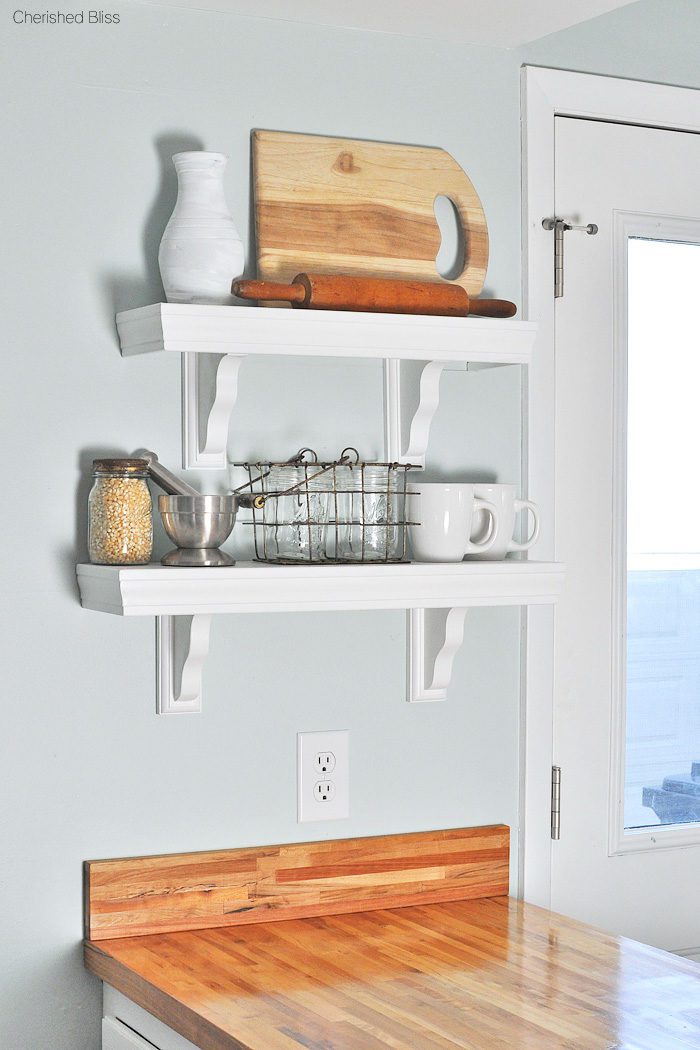
{"type": "Polygon", "coordinates": [[[224,469],[238,373],[251,355],[385,361],[385,457],[422,465],[446,368],[528,364],[537,326],[491,317],[156,302],[116,315],[122,354],[183,361],[183,466],[224,469]]]}

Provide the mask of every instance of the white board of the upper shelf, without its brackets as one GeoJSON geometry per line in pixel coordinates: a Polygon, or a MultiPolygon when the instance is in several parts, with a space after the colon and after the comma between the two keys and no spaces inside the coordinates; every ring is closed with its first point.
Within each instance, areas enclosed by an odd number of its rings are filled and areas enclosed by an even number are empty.
{"type": "Polygon", "coordinates": [[[116,315],[122,354],[248,354],[527,364],[537,326],[490,317],[433,317],[269,307],[156,302],[116,315]]]}

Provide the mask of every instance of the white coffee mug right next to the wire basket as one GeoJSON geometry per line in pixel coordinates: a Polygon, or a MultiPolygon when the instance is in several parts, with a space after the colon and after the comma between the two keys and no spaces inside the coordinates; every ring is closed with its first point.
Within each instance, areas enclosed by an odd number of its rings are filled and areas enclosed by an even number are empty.
{"type": "Polygon", "coordinates": [[[488,500],[474,495],[472,484],[416,482],[407,486],[408,521],[413,558],[418,562],[461,562],[471,552],[486,553],[497,536],[497,511],[488,500]],[[486,536],[469,539],[474,516],[488,519],[486,536]]]}

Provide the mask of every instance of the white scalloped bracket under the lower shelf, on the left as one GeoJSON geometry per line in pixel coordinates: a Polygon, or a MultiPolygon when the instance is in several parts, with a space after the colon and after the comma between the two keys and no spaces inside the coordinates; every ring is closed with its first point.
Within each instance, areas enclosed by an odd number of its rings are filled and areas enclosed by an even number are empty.
{"type": "Polygon", "coordinates": [[[160,715],[198,714],[201,674],[209,653],[211,616],[156,616],[156,711],[160,715]]]}

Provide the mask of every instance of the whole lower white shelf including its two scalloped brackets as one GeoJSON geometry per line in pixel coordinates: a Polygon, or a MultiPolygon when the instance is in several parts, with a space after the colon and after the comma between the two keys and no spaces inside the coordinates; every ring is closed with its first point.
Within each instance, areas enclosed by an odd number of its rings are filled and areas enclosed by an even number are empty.
{"type": "Polygon", "coordinates": [[[187,569],[79,565],[85,609],[155,616],[157,711],[201,710],[201,675],[215,614],[408,610],[408,700],[444,700],[473,606],[547,605],[564,566],[552,562],[263,565],[187,569]]]}

